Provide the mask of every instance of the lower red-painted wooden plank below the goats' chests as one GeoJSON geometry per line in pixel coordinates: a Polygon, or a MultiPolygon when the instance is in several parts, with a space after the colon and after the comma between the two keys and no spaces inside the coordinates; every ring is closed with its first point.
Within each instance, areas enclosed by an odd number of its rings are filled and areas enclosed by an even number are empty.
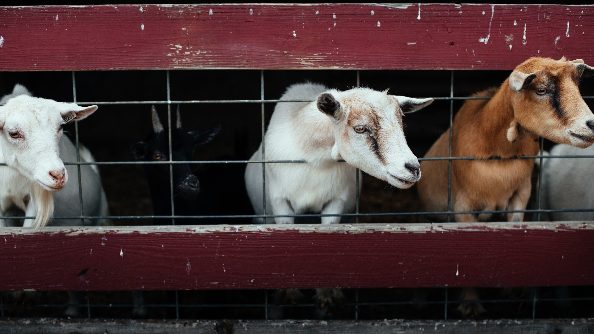
{"type": "Polygon", "coordinates": [[[594,285],[592,222],[0,231],[0,290],[594,285]]]}

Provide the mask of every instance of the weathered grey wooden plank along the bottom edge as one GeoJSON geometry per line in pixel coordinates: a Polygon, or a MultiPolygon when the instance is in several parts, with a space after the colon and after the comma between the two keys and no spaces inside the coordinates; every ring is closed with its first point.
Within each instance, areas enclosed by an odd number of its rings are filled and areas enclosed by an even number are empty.
{"type": "Polygon", "coordinates": [[[0,320],[5,334],[586,334],[594,332],[592,319],[542,320],[0,320]]]}

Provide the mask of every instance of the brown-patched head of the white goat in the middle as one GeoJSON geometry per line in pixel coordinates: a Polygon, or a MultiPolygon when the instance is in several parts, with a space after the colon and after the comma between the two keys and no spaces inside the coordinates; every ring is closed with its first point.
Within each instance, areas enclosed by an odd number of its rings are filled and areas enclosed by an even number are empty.
{"type": "Polygon", "coordinates": [[[421,178],[421,171],[406,144],[402,116],[431,102],[431,98],[412,99],[353,88],[322,93],[317,106],[333,121],[333,159],[345,159],[367,174],[406,189],[421,178]]]}

